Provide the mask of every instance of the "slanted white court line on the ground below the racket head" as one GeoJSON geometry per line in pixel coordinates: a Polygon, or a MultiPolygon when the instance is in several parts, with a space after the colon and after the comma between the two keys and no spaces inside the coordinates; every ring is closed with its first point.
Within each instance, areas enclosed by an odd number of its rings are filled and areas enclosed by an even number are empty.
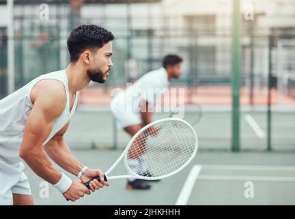
{"type": "Polygon", "coordinates": [[[186,178],[186,181],[184,182],[175,205],[186,205],[188,198],[191,196],[191,191],[193,190],[193,186],[195,185],[195,181],[197,180],[200,171],[200,165],[193,166],[191,172],[189,172],[188,177],[186,178]]]}

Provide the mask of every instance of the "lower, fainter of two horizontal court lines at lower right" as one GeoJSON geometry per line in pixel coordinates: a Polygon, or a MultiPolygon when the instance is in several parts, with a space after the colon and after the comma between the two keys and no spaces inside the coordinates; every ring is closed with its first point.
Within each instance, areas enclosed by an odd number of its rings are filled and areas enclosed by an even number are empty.
{"type": "Polygon", "coordinates": [[[295,177],[262,177],[262,176],[231,176],[231,175],[199,175],[198,179],[205,180],[234,180],[234,181],[295,181],[295,177]]]}

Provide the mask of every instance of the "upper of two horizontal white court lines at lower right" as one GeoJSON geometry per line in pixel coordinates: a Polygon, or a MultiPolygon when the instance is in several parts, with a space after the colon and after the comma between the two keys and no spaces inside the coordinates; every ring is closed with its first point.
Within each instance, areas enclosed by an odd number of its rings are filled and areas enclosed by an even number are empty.
{"type": "Polygon", "coordinates": [[[258,165],[211,165],[202,164],[202,169],[209,170],[281,170],[295,171],[295,166],[258,166],[258,165]]]}

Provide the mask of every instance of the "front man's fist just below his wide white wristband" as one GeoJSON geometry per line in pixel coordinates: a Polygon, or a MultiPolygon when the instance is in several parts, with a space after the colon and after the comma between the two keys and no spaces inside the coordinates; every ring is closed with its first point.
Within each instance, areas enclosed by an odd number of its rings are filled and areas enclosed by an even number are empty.
{"type": "Polygon", "coordinates": [[[84,194],[90,194],[90,190],[83,185],[81,180],[73,180],[70,188],[63,193],[63,196],[70,201],[76,201],[83,197],[84,194]]]}

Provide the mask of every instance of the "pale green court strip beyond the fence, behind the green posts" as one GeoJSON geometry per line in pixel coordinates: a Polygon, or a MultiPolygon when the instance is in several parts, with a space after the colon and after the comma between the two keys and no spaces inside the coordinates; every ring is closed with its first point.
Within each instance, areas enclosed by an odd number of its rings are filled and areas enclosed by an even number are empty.
{"type": "MultiPolygon", "coordinates": [[[[201,118],[192,124],[199,137],[200,150],[231,149],[231,112],[225,107],[202,107],[201,118]]],[[[271,114],[271,146],[274,151],[295,151],[294,110],[276,110],[271,114]]],[[[193,123],[199,112],[185,111],[184,119],[193,123]]],[[[154,113],[154,120],[169,113],[154,113]]],[[[267,147],[266,107],[242,110],[240,113],[240,148],[244,151],[265,151],[267,147]]],[[[81,109],[71,119],[66,140],[73,149],[123,149],[130,137],[114,125],[109,108],[81,109]]]]}

